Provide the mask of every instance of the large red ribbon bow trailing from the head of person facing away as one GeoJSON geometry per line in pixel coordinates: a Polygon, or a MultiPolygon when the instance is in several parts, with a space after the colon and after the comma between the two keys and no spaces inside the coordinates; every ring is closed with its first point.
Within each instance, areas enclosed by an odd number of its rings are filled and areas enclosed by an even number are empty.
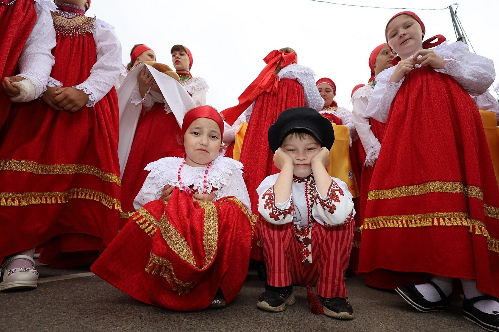
{"type": "Polygon", "coordinates": [[[263,93],[263,91],[277,93],[279,78],[274,74],[275,68],[280,62],[280,67],[284,68],[288,64],[297,63],[298,58],[295,52],[285,53],[284,51],[273,50],[263,58],[267,64],[258,77],[239,96],[239,105],[223,110],[225,121],[233,125],[239,116],[251,105],[251,103],[263,93]]]}

